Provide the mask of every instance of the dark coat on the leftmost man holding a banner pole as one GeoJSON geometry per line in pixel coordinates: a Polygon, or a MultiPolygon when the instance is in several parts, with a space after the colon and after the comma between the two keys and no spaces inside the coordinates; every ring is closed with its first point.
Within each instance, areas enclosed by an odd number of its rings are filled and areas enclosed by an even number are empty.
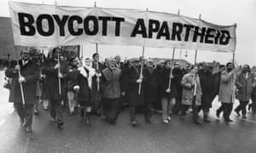
{"type": "MultiPolygon", "coordinates": [[[[15,65],[11,65],[10,68],[5,71],[6,77],[12,78],[9,102],[22,104],[20,82],[18,82],[19,75],[18,72],[15,72],[15,65]]],[[[26,65],[22,65],[22,61],[19,60],[19,65],[20,75],[25,77],[26,80],[26,82],[22,83],[25,104],[34,104],[36,100],[38,100],[36,97],[36,88],[39,79],[40,68],[37,63],[34,63],[31,60],[28,61],[26,65]]]]}

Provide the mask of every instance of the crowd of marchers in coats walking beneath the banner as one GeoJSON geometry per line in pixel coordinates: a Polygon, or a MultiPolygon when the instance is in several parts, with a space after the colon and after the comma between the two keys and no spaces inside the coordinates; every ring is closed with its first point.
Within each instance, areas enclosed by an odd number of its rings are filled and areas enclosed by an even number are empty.
{"type": "Polygon", "coordinates": [[[132,127],[137,127],[137,113],[151,123],[152,111],[159,112],[162,122],[168,124],[173,115],[185,120],[189,108],[193,122],[200,125],[210,122],[209,111],[217,96],[221,105],[216,116],[223,113],[224,122],[233,122],[230,113],[235,99],[240,103],[234,110],[237,116],[247,118],[247,105],[256,114],[256,73],[249,65],[237,69],[227,63],[212,74],[207,64],[180,65],[166,60],[156,65],[143,58],[121,62],[119,55],[101,63],[99,54],[83,60],[67,58],[61,48],[53,48],[47,58],[37,48],[24,48],[20,57],[5,71],[5,87],[27,133],[32,132],[32,116],[38,115],[40,102],[57,127],[64,125],[65,106],[71,116],[79,113],[86,125],[93,122],[91,115],[103,115],[114,125],[124,109],[132,127]]]}

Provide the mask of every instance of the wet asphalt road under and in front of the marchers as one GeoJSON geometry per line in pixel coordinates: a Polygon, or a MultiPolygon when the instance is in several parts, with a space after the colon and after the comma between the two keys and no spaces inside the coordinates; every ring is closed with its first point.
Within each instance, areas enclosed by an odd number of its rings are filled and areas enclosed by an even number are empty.
{"type": "MultiPolygon", "coordinates": [[[[0,152],[2,153],[158,153],[158,152],[256,152],[256,119],[248,112],[248,119],[236,117],[225,123],[215,116],[218,102],[211,110],[211,123],[198,126],[191,113],[186,119],[172,116],[172,122],[161,122],[154,113],[152,123],[137,115],[137,127],[131,127],[127,110],[119,115],[116,125],[105,122],[104,117],[92,116],[86,126],[79,114],[69,116],[65,111],[65,125],[61,129],[49,121],[49,111],[40,104],[39,116],[34,116],[32,133],[20,127],[13,106],[8,103],[9,91],[3,88],[3,71],[0,71],[0,152]]],[[[202,113],[200,114],[202,116],[202,113]]]]}

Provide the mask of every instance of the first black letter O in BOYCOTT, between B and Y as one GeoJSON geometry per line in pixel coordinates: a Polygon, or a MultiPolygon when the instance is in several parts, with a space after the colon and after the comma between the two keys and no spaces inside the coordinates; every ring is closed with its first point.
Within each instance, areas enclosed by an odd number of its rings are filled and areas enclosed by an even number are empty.
{"type": "Polygon", "coordinates": [[[55,23],[52,17],[49,14],[40,14],[38,16],[37,20],[37,28],[38,28],[38,33],[42,36],[49,37],[54,34],[55,32],[55,23]],[[43,20],[47,20],[48,22],[48,31],[44,30],[43,27],[43,20]]]}

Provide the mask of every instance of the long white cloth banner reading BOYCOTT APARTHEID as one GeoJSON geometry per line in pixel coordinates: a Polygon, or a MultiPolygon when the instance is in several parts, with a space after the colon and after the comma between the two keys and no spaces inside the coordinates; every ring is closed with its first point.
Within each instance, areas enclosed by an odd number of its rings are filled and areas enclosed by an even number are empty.
{"type": "Polygon", "coordinates": [[[177,14],[15,2],[9,8],[15,44],[21,46],[99,43],[236,50],[236,25],[218,26],[177,14]]]}

